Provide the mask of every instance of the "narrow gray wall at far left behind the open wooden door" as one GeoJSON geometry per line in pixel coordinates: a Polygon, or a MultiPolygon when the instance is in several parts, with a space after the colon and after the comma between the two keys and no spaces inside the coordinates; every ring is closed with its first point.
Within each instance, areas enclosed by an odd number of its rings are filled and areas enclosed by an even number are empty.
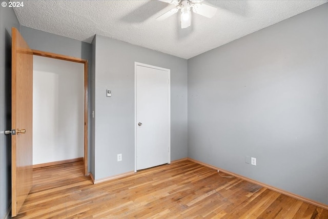
{"type": "MultiPolygon", "coordinates": [[[[9,1],[1,1],[8,2],[9,1]]],[[[0,7],[0,218],[11,203],[11,28],[19,30],[12,8],[0,7]]]]}

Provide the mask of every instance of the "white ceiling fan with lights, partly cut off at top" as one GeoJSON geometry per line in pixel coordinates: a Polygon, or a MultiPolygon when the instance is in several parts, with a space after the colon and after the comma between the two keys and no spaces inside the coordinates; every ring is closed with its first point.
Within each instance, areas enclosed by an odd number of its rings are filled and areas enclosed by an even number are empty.
{"type": "Polygon", "coordinates": [[[217,8],[201,3],[203,0],[158,0],[175,5],[170,11],[157,17],[157,21],[172,16],[181,10],[181,28],[187,28],[191,25],[191,8],[194,13],[211,18],[216,13],[217,8]]]}

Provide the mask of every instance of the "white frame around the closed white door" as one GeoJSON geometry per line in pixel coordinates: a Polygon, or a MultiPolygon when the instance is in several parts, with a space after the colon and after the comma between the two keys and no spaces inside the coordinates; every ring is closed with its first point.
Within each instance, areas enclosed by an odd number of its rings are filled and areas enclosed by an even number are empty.
{"type": "Polygon", "coordinates": [[[169,73],[169,139],[170,145],[168,150],[168,164],[171,164],[171,70],[167,68],[161,68],[157,66],[152,66],[144,63],[134,62],[134,172],[137,172],[137,66],[142,66],[146,68],[153,68],[162,71],[167,71],[169,73]]]}

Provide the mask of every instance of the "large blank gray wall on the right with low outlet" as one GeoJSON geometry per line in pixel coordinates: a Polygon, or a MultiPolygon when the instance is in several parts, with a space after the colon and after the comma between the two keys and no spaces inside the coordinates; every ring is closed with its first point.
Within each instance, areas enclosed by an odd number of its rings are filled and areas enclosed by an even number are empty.
{"type": "Polygon", "coordinates": [[[328,204],[327,12],[188,60],[189,157],[328,204]]]}

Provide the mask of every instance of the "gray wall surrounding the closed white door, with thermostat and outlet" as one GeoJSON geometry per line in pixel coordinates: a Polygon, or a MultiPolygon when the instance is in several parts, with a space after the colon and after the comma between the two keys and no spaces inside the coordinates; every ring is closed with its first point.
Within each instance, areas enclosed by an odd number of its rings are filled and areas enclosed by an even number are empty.
{"type": "Polygon", "coordinates": [[[171,160],[187,157],[187,60],[99,35],[95,47],[95,178],[134,170],[134,62],[171,69],[171,160]]]}

